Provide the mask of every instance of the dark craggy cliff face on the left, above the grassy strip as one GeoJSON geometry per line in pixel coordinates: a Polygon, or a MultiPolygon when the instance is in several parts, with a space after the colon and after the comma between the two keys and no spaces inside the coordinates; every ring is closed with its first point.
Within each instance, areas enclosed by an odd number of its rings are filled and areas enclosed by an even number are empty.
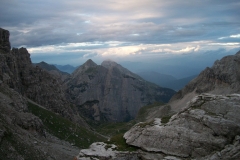
{"type": "MultiPolygon", "coordinates": [[[[9,32],[0,31],[3,37],[1,48],[4,48],[5,44],[10,44],[6,42],[9,40],[7,37],[9,32]]],[[[70,103],[65,97],[61,79],[38,66],[33,66],[26,48],[13,48],[11,51],[0,50],[0,80],[45,108],[86,125],[70,107],[70,103]]]]}

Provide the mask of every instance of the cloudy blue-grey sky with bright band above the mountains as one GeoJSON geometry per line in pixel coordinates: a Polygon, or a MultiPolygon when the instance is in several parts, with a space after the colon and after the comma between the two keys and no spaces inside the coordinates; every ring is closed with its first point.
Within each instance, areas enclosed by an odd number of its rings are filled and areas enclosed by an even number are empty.
{"type": "Polygon", "coordinates": [[[0,0],[0,27],[33,62],[113,60],[133,72],[198,74],[240,50],[239,0],[0,0]]]}

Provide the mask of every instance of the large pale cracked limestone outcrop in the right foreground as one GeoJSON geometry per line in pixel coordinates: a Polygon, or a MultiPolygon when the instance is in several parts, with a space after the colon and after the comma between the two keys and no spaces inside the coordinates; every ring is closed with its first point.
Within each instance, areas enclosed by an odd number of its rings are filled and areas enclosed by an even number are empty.
{"type": "MultiPolygon", "coordinates": [[[[169,122],[139,123],[125,133],[129,145],[146,151],[162,152],[185,158],[201,158],[222,150],[240,135],[240,95],[201,94],[169,122]]],[[[224,149],[225,148],[225,149],[224,149]]],[[[233,148],[233,147],[232,147],[233,148]]],[[[229,149],[231,150],[231,148],[229,149]]],[[[227,156],[227,155],[226,155],[227,156]]],[[[240,155],[235,155],[236,159],[240,155]]]]}

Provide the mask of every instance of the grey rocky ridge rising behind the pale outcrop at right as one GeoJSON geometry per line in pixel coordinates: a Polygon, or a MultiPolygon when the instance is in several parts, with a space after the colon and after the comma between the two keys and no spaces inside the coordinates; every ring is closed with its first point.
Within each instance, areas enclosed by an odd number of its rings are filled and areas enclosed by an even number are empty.
{"type": "MultiPolygon", "coordinates": [[[[240,51],[235,55],[217,60],[211,68],[203,70],[182,90],[175,94],[171,101],[182,99],[191,92],[196,94],[231,94],[240,92],[240,51]]],[[[190,99],[189,99],[190,100],[190,99]]]]}

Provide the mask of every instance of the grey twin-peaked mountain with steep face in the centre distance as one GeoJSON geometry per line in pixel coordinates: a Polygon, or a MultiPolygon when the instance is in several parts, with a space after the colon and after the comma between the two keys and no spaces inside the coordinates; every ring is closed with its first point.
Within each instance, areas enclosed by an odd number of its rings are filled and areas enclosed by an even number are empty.
{"type": "Polygon", "coordinates": [[[65,83],[69,99],[79,112],[95,121],[128,121],[140,107],[167,102],[175,91],[144,81],[119,64],[88,60],[65,83]]]}

